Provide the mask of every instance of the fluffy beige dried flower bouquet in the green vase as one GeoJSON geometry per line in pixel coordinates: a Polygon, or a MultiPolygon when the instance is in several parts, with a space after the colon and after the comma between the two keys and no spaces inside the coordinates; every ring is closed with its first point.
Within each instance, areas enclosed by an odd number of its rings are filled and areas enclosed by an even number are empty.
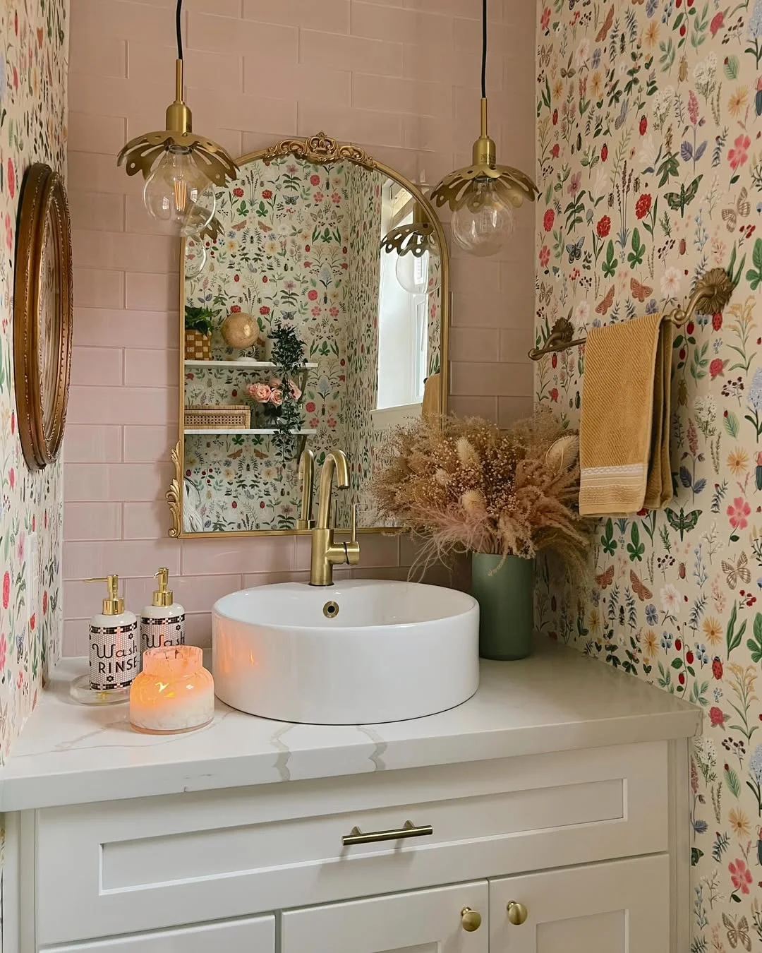
{"type": "Polygon", "coordinates": [[[421,559],[457,552],[533,558],[552,549],[578,565],[588,545],[573,508],[575,436],[540,413],[501,431],[487,420],[422,417],[392,436],[373,491],[387,517],[424,540],[421,559]]]}

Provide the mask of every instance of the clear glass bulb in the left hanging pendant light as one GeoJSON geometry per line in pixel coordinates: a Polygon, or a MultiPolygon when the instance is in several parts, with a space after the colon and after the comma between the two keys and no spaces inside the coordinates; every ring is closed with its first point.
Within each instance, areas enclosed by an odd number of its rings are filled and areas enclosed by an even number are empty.
{"type": "Polygon", "coordinates": [[[214,214],[210,180],[193,160],[190,149],[170,146],[146,179],[143,201],[150,215],[176,226],[180,234],[197,234],[214,214]],[[203,202],[199,203],[201,194],[203,202]]]}

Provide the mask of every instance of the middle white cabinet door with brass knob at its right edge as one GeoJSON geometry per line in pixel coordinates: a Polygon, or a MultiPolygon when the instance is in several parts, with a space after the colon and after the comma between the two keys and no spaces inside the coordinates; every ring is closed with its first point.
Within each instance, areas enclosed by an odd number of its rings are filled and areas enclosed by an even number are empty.
{"type": "Polygon", "coordinates": [[[487,882],[477,881],[293,910],[281,953],[488,953],[487,902],[487,882]],[[471,931],[466,907],[483,919],[471,931]]]}

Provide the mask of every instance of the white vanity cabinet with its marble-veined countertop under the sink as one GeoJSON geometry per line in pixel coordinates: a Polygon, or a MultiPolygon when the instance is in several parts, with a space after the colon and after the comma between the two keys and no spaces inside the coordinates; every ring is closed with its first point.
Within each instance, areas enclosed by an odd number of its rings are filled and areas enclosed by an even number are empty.
{"type": "Polygon", "coordinates": [[[0,775],[4,953],[688,948],[700,713],[573,652],[359,728],[156,739],[66,689],[0,775]]]}

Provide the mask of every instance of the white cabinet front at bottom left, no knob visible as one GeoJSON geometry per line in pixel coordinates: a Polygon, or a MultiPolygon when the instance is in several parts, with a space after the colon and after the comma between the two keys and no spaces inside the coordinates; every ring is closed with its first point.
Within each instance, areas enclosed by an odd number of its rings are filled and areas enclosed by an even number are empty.
{"type": "Polygon", "coordinates": [[[40,953],[275,953],[275,918],[202,923],[93,943],[43,947],[40,953]]]}

